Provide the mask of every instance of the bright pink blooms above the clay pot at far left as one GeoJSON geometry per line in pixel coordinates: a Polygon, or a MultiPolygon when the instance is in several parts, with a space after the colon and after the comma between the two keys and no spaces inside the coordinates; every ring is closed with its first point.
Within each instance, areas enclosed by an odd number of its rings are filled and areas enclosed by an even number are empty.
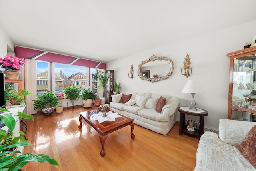
{"type": "Polygon", "coordinates": [[[6,71],[18,71],[24,66],[24,64],[26,64],[26,61],[19,57],[6,55],[3,59],[0,58],[1,68],[5,68],[6,71]]]}

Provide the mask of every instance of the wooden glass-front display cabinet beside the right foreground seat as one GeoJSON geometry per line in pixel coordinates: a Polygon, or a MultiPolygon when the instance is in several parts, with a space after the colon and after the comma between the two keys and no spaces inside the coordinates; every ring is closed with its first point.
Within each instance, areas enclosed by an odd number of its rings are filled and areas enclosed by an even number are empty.
{"type": "Polygon", "coordinates": [[[256,46],[228,53],[228,119],[256,121],[256,46]]]}

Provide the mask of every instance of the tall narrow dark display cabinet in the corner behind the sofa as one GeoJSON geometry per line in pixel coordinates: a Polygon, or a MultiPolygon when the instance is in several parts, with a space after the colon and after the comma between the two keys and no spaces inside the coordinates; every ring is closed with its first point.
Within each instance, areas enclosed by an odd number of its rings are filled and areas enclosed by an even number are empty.
{"type": "Polygon", "coordinates": [[[106,103],[109,104],[112,101],[111,95],[113,95],[113,90],[114,90],[114,70],[106,70],[105,72],[108,76],[105,97],[106,97],[106,103]]]}

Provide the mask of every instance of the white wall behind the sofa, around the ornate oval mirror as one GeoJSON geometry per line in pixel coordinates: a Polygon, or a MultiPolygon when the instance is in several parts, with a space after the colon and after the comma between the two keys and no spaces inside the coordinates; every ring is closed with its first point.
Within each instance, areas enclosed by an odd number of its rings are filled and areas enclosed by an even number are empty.
{"type": "MultiPolygon", "coordinates": [[[[227,118],[228,111],[228,77],[229,58],[227,53],[243,49],[244,44],[252,42],[256,35],[256,20],[233,26],[224,30],[212,32],[181,42],[168,44],[138,54],[108,62],[107,69],[115,70],[116,82],[122,83],[120,92],[147,92],[171,95],[180,99],[180,106],[189,106],[191,94],[181,93],[188,80],[198,80],[205,93],[196,94],[196,107],[209,112],[204,117],[204,127],[218,129],[219,119],[227,118]],[[186,53],[190,56],[193,71],[186,78],[180,73],[186,53]],[[152,54],[166,56],[174,62],[174,71],[167,80],[147,82],[138,77],[137,67],[152,54]],[[134,66],[134,78],[128,78],[130,66],[134,66]]],[[[170,38],[171,39],[171,38],[170,38]]],[[[176,120],[179,121],[179,113],[176,120]]],[[[196,119],[199,121],[199,118],[196,119]]]]}

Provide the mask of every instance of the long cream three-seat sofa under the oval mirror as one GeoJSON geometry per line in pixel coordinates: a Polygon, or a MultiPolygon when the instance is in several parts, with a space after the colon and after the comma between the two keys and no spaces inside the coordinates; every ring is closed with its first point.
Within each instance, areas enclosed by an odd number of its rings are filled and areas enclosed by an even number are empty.
{"type": "Polygon", "coordinates": [[[144,128],[150,129],[154,132],[167,135],[168,132],[172,129],[173,125],[176,122],[176,109],[180,103],[179,99],[176,97],[171,97],[168,95],[159,95],[151,93],[129,93],[132,94],[130,101],[136,101],[135,104],[122,104],[118,103],[120,101],[120,95],[112,96],[112,102],[110,106],[112,111],[118,112],[124,116],[134,119],[136,125],[140,125],[144,128]],[[137,103],[139,96],[147,97],[146,103],[143,107],[139,107],[137,103]],[[166,98],[166,104],[162,108],[161,113],[157,113],[156,103],[160,97],[166,98]]]}

